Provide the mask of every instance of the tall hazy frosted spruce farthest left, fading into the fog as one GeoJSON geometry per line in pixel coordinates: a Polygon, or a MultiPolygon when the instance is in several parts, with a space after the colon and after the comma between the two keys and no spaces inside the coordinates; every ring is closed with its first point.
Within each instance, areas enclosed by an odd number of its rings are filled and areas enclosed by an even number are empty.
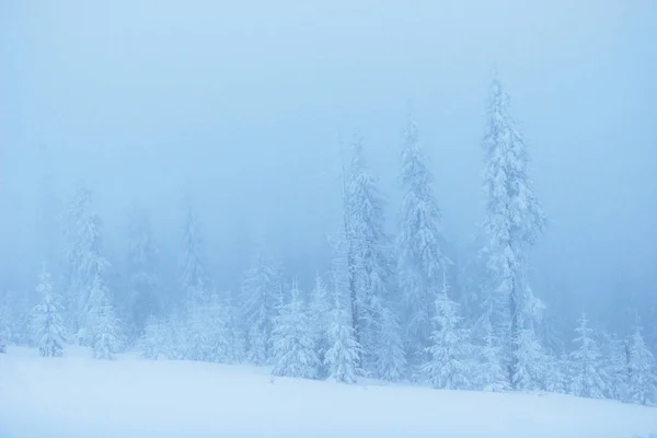
{"type": "Polygon", "coordinates": [[[93,327],[88,325],[93,310],[94,280],[110,267],[103,255],[101,218],[92,210],[91,191],[79,186],[67,211],[66,237],[68,241],[66,298],[69,325],[80,343],[90,345],[93,327]]]}

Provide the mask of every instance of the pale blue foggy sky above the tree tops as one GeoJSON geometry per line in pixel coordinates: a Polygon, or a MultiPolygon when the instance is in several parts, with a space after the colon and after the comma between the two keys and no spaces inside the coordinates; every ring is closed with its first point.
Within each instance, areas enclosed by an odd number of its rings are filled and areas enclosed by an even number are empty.
{"type": "Polygon", "coordinates": [[[649,0],[4,0],[0,284],[33,288],[44,192],[67,203],[80,180],[111,252],[135,206],[175,249],[189,193],[218,283],[238,285],[258,232],[312,275],[338,224],[339,139],[362,134],[392,231],[410,114],[465,245],[497,70],[550,220],[537,293],[602,318],[656,290],[656,22],[649,0]]]}

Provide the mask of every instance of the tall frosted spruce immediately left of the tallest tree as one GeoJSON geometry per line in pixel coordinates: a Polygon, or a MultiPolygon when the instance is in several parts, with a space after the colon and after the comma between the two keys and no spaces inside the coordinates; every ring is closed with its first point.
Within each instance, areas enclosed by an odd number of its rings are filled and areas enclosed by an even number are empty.
{"type": "Polygon", "coordinates": [[[424,351],[429,346],[434,302],[447,258],[434,176],[422,151],[415,123],[408,124],[404,137],[397,273],[407,332],[405,343],[411,357],[426,359],[424,351]]]}

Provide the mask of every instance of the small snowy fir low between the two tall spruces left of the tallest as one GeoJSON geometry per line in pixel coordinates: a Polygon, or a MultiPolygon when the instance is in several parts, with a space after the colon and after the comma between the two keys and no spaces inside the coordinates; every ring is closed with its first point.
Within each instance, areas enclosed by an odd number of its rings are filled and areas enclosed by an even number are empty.
{"type": "MultiPolygon", "coordinates": [[[[376,300],[376,298],[374,298],[376,300]]],[[[402,342],[402,328],[390,306],[382,300],[373,303],[376,348],[372,351],[374,372],[379,379],[396,382],[406,376],[407,364],[402,342]]]]}

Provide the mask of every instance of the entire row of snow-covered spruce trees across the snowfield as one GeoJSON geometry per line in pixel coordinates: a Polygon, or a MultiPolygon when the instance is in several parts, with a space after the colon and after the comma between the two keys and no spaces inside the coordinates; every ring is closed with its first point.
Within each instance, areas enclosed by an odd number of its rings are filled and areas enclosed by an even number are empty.
{"type": "Polygon", "coordinates": [[[550,321],[532,290],[528,260],[548,222],[528,173],[526,141],[497,78],[482,149],[483,243],[470,290],[459,296],[459,262],[447,250],[429,160],[410,122],[395,235],[387,231],[389,206],[355,135],[343,166],[341,224],[330,237],[331,266],[307,291],[264,243],[241,289],[220,291],[207,270],[192,199],[181,245],[182,298],[161,293],[158,245],[145,212],[130,222],[128,286],[111,290],[103,223],[92,192],[80,186],[66,211],[61,273],[54,280],[44,267],[41,301],[16,319],[13,335],[3,331],[0,350],[3,337],[35,345],[43,356],[61,355],[69,343],[91,347],[99,359],[135,347],[149,359],[268,365],[275,376],[346,383],[368,376],[438,389],[656,403],[657,364],[639,321],[631,336],[619,337],[593,330],[583,313],[573,322],[572,347],[548,342],[550,321]]]}

